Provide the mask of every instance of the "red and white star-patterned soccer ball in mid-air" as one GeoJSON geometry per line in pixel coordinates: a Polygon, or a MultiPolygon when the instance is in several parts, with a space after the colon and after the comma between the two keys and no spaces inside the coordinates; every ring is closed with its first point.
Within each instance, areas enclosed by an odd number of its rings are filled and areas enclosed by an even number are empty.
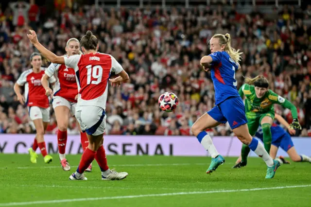
{"type": "Polygon", "coordinates": [[[175,108],[177,108],[178,102],[178,97],[172,92],[162,93],[158,100],[160,109],[165,112],[172,112],[175,110],[175,108]]]}

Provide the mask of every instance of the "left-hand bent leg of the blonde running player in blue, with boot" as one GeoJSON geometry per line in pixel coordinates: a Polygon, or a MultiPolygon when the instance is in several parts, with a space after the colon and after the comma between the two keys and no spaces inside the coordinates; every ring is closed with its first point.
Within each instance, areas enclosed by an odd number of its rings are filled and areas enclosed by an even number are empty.
{"type": "MultiPolygon", "coordinates": [[[[218,109],[218,108],[217,108],[218,109]]],[[[216,109],[212,109],[208,113],[216,113],[216,109]]],[[[219,110],[219,109],[218,109],[219,110]]],[[[218,112],[220,113],[220,112],[218,112]]],[[[212,128],[219,125],[220,122],[214,120],[209,114],[204,114],[201,116],[191,127],[191,131],[193,135],[195,135],[198,141],[203,145],[203,147],[209,152],[212,157],[211,163],[207,169],[207,174],[212,173],[215,171],[220,165],[225,163],[225,158],[222,155],[219,155],[217,152],[212,139],[207,134],[207,128],[212,128]]]]}

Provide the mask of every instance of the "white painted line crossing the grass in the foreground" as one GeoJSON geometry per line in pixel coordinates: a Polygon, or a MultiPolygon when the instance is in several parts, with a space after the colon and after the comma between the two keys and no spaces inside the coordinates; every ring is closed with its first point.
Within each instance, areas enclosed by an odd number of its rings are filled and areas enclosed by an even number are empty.
{"type": "Polygon", "coordinates": [[[162,196],[173,196],[173,195],[191,195],[191,194],[207,194],[207,193],[223,193],[223,192],[245,192],[255,190],[276,190],[276,189],[290,189],[290,188],[305,188],[311,187],[311,185],[302,186],[280,186],[272,188],[256,188],[256,189],[237,189],[237,190],[213,190],[213,191],[194,191],[194,192],[172,192],[172,193],[161,193],[161,194],[142,194],[142,195],[124,195],[124,196],[109,196],[109,197],[97,197],[97,198],[73,198],[63,200],[49,200],[49,201],[30,201],[30,202],[12,202],[12,203],[0,203],[1,207],[4,206],[26,206],[34,204],[55,204],[55,203],[69,203],[78,201],[98,201],[98,200],[115,200],[115,199],[126,199],[126,198],[143,198],[143,197],[162,197],[162,196]]]}

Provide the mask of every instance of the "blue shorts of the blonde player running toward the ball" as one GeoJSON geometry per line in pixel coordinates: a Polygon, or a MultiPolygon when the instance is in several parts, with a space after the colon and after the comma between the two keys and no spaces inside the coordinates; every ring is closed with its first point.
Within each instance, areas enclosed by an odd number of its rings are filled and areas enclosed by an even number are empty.
{"type": "Polygon", "coordinates": [[[218,122],[226,123],[228,121],[231,129],[247,123],[245,106],[241,97],[229,98],[215,105],[207,114],[218,122]]]}

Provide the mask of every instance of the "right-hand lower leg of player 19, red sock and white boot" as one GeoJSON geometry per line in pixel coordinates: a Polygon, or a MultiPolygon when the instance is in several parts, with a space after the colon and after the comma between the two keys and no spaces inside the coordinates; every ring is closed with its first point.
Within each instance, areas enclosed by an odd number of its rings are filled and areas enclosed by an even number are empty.
{"type": "Polygon", "coordinates": [[[121,172],[118,173],[114,170],[110,170],[108,165],[107,165],[107,158],[106,158],[106,153],[105,149],[102,146],[100,146],[96,152],[95,159],[101,169],[102,172],[102,180],[122,180],[126,178],[128,173],[126,172],[121,172]]]}

